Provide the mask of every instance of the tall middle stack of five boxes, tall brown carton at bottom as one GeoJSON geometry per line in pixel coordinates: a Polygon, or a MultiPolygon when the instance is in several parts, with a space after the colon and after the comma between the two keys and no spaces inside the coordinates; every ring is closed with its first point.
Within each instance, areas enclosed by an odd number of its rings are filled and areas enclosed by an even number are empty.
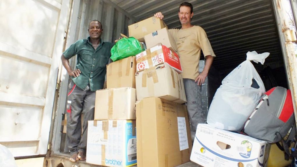
{"type": "Polygon", "coordinates": [[[192,141],[176,43],[159,18],[130,25],[145,42],[136,55],[137,166],[173,167],[189,161],[192,141]]]}

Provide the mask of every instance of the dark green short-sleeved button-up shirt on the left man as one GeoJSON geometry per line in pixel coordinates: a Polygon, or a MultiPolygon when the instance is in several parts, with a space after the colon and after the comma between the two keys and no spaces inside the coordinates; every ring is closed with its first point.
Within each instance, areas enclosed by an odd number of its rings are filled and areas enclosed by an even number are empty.
{"type": "Polygon", "coordinates": [[[111,47],[113,44],[110,42],[100,42],[95,50],[88,37],[76,41],[65,50],[63,55],[67,59],[77,55],[76,68],[80,69],[81,73],[78,77],[72,77],[72,80],[79,88],[85,89],[88,84],[91,91],[103,88],[111,47]]]}

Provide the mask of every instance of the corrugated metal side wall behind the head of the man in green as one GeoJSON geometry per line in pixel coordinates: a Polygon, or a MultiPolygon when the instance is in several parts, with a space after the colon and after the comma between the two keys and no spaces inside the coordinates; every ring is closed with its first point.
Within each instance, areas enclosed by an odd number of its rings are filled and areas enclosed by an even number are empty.
{"type": "Polygon", "coordinates": [[[91,20],[99,20],[103,26],[102,40],[114,42],[120,33],[128,35],[128,25],[136,20],[133,16],[105,0],[81,0],[75,39],[89,36],[88,26],[91,20]]]}

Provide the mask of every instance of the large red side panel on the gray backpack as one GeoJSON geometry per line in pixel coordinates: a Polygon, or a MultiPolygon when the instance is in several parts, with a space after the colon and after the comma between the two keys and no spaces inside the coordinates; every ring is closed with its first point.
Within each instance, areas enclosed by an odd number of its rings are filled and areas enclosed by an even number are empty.
{"type": "Polygon", "coordinates": [[[279,119],[287,122],[291,115],[293,114],[294,109],[293,109],[293,101],[292,101],[292,96],[291,96],[291,91],[287,90],[287,97],[285,100],[284,107],[282,108],[282,112],[279,115],[279,119]]]}

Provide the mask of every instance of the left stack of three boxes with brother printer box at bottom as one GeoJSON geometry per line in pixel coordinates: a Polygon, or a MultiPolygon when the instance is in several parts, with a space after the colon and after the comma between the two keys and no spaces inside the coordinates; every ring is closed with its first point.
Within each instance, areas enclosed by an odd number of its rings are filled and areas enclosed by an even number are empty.
{"type": "Polygon", "coordinates": [[[136,159],[135,56],[107,65],[107,89],[96,91],[89,121],[86,162],[134,166],[136,159]]]}

